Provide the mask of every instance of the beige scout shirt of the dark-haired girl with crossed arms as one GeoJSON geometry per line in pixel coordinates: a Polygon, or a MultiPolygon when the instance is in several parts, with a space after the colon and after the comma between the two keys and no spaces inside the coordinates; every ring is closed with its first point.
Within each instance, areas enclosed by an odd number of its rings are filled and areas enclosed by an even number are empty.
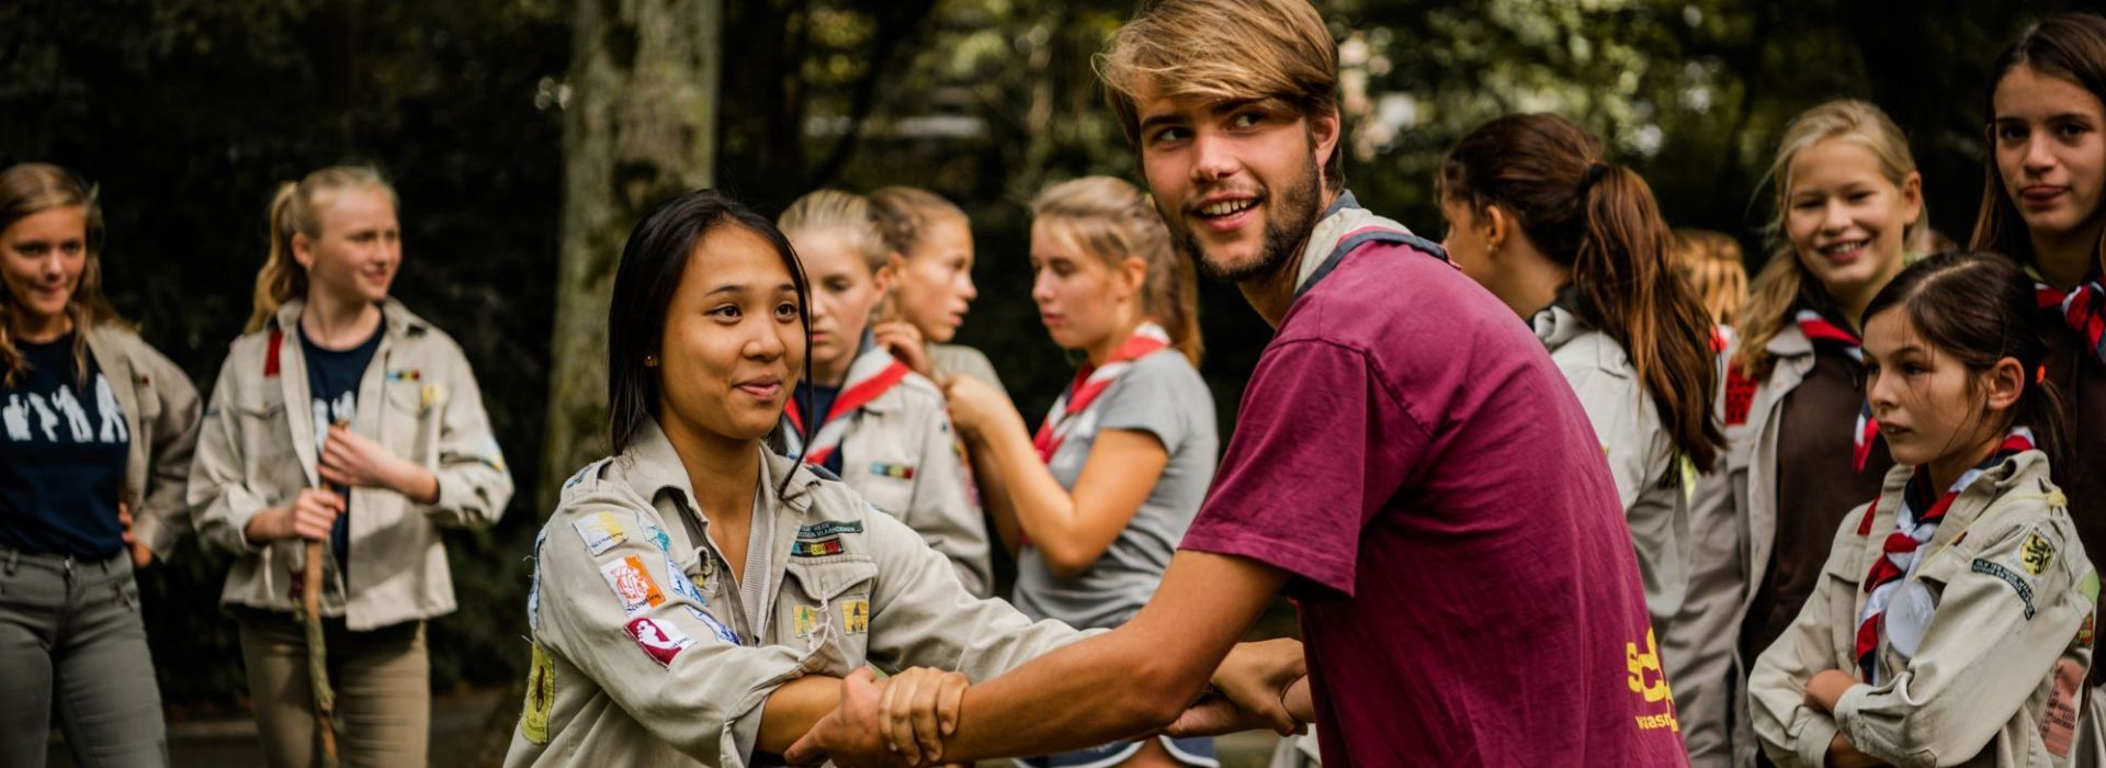
{"type": "Polygon", "coordinates": [[[1893,766],[2068,764],[2098,574],[2039,450],[1961,490],[1925,545],[1906,577],[1935,600],[1916,652],[1904,656],[1881,638],[1883,684],[1849,688],[1834,715],[1805,703],[1813,673],[1860,675],[1862,585],[1893,532],[1910,471],[1887,473],[1866,534],[1864,507],[1851,511],[1813,598],[1756,659],[1748,694],[1763,751],[1780,766],[1822,766],[1841,732],[1893,766]]]}

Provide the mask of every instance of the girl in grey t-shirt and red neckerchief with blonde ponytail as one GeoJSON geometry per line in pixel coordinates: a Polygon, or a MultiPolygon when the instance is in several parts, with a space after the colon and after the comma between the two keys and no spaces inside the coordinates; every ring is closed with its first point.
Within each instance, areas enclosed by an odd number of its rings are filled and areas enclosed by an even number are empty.
{"type": "MultiPolygon", "coordinates": [[[[1032,299],[1085,364],[1036,438],[1009,398],[954,375],[950,412],[1032,619],[1118,627],[1148,602],[1215,469],[1192,261],[1131,183],[1087,177],[1032,202],[1032,299]]],[[[1211,739],[1144,739],[1032,764],[1213,764],[1211,739]]]]}

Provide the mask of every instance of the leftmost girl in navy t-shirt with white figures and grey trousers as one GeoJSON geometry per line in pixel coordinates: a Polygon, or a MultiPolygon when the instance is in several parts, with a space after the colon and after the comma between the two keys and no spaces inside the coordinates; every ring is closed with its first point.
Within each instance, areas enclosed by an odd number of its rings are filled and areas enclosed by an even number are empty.
{"type": "Polygon", "coordinates": [[[133,568],[190,528],[190,379],[101,290],[103,210],[65,168],[0,170],[0,766],[164,766],[133,568]]]}

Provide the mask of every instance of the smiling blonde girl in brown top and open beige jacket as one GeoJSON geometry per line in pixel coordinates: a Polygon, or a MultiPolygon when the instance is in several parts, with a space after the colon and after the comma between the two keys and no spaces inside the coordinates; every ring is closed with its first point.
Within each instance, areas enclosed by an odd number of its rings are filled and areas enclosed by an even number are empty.
{"type": "Polygon", "coordinates": [[[1748,669],[1807,604],[1836,524],[1893,467],[1864,398],[1860,316],[1927,221],[1908,139],[1864,101],[1792,118],[1769,177],[1775,248],[1727,349],[1725,471],[1700,492],[1689,598],[1668,633],[1697,766],[1754,760],[1748,669]]]}

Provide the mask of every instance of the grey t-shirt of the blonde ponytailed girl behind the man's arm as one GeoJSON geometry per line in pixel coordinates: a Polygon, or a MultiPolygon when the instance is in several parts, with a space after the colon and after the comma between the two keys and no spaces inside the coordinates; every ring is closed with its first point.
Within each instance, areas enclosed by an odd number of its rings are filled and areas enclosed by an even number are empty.
{"type": "Polygon", "coordinates": [[[1171,553],[1213,484],[1219,461],[1213,393],[1175,349],[1135,360],[1082,412],[1049,467],[1061,488],[1074,490],[1099,429],[1150,433],[1163,442],[1171,461],[1127,530],[1080,574],[1055,577],[1036,549],[1017,555],[1015,604],[1026,617],[1059,619],[1072,627],[1118,627],[1133,619],[1156,593],[1171,553]]]}

